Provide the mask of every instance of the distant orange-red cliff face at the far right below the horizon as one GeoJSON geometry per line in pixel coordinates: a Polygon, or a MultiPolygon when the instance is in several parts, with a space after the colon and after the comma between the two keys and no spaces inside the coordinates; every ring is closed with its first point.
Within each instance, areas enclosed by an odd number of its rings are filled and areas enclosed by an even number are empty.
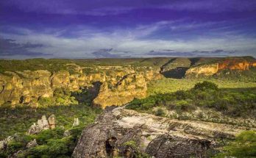
{"type": "Polygon", "coordinates": [[[202,64],[189,68],[185,76],[212,76],[222,70],[238,70],[248,71],[250,68],[256,66],[256,61],[247,61],[243,59],[227,59],[215,62],[213,64],[202,64]]]}

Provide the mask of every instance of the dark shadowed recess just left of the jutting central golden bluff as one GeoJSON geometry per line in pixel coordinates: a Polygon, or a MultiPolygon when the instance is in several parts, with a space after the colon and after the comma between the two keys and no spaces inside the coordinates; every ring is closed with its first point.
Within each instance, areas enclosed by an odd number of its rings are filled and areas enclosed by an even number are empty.
{"type": "Polygon", "coordinates": [[[72,93],[72,96],[76,98],[79,104],[91,104],[93,99],[98,96],[101,85],[102,82],[93,82],[93,86],[82,88],[80,89],[80,92],[72,93]]]}

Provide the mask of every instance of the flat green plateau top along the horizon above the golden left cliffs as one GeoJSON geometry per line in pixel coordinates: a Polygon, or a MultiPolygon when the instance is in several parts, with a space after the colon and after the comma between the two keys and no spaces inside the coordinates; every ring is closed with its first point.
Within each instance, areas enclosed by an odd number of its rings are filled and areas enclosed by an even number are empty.
{"type": "MultiPolygon", "coordinates": [[[[81,67],[97,66],[97,65],[132,65],[138,66],[152,66],[160,67],[169,58],[128,58],[128,59],[84,59],[84,60],[65,60],[65,59],[50,59],[43,58],[29,59],[29,60],[0,60],[0,73],[4,71],[36,71],[36,70],[48,70],[50,72],[57,71],[69,71],[73,73],[76,65],[81,67]],[[74,65],[76,64],[76,65],[74,65]]],[[[90,71],[90,70],[88,70],[90,71]]]]}

